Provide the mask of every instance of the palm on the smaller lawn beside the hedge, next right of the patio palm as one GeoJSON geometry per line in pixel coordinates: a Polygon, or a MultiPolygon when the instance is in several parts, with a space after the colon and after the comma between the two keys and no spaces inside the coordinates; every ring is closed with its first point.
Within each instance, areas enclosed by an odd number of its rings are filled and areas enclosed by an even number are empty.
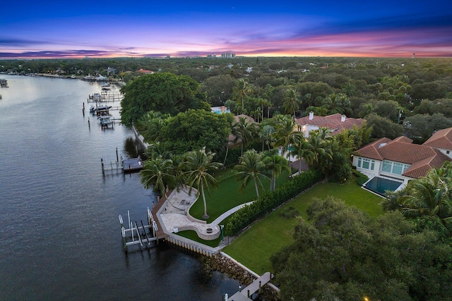
{"type": "Polygon", "coordinates": [[[244,190],[249,181],[253,180],[254,188],[256,188],[257,199],[259,199],[258,185],[263,188],[261,178],[267,178],[263,173],[266,168],[263,163],[263,156],[263,153],[258,153],[254,149],[247,150],[240,157],[239,164],[234,167],[234,169],[238,171],[237,180],[242,181],[239,186],[239,190],[244,190]]]}

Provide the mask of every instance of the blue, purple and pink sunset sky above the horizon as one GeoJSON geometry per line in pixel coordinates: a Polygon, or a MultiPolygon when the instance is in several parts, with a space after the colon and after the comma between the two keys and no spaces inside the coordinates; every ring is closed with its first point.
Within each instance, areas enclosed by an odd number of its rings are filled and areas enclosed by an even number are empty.
{"type": "Polygon", "coordinates": [[[451,0],[21,1],[0,58],[448,56],[451,0]]]}

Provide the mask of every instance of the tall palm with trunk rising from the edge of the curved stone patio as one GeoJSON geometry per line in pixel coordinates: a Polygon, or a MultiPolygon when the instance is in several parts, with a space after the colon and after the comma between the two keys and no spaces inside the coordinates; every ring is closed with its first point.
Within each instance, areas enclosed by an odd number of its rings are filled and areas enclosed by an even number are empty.
{"type": "Polygon", "coordinates": [[[213,152],[206,153],[206,147],[186,154],[185,166],[188,169],[188,171],[186,171],[186,179],[190,186],[189,193],[191,193],[193,186],[196,186],[196,188],[198,188],[197,197],[199,197],[199,192],[201,190],[204,204],[203,219],[209,218],[204,188],[207,188],[209,191],[209,185],[212,185],[214,188],[218,187],[217,180],[208,172],[215,171],[222,166],[219,162],[212,162],[213,156],[215,156],[213,152]]]}

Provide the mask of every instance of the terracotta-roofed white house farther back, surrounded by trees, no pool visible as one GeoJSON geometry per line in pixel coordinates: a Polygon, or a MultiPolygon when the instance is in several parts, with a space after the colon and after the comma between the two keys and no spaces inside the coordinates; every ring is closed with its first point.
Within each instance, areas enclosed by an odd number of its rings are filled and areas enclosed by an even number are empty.
{"type": "Polygon", "coordinates": [[[354,125],[361,126],[364,123],[362,118],[347,118],[345,115],[335,113],[329,116],[314,116],[314,112],[310,112],[309,116],[296,119],[297,130],[303,132],[304,137],[309,136],[311,130],[319,130],[319,128],[328,128],[331,135],[336,135],[344,129],[352,130],[354,125]]]}

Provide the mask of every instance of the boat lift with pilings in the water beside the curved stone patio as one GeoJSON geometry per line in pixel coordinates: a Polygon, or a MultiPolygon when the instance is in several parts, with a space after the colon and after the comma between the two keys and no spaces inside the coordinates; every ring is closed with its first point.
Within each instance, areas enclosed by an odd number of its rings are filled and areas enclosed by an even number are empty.
{"type": "Polygon", "coordinates": [[[129,228],[127,229],[124,228],[124,221],[122,220],[122,216],[119,216],[119,223],[121,223],[122,242],[125,251],[127,251],[127,247],[129,247],[129,245],[140,244],[140,246],[143,247],[145,243],[150,245],[150,242],[157,240],[155,232],[158,230],[158,227],[157,223],[155,223],[154,221],[153,214],[149,210],[149,207],[148,225],[144,225],[143,220],[141,220],[141,226],[138,226],[137,221],[131,222],[129,210],[127,210],[127,216],[129,218],[129,228]]]}

